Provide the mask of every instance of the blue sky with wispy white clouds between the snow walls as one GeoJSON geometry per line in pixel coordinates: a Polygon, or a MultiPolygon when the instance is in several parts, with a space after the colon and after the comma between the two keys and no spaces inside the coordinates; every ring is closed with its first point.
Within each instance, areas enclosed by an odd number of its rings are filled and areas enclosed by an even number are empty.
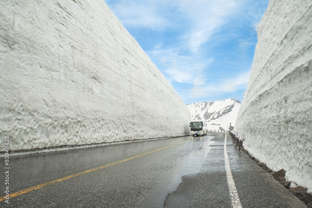
{"type": "Polygon", "coordinates": [[[269,0],[105,0],[185,104],[242,101],[269,0]]]}

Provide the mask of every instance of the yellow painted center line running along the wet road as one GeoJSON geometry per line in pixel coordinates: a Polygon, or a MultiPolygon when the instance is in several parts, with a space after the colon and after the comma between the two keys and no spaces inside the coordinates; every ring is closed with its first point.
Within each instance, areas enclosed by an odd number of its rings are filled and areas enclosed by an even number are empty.
{"type": "MultiPolygon", "coordinates": [[[[197,139],[197,138],[196,138],[197,139]]],[[[194,140],[194,139],[193,139],[194,140]]],[[[166,148],[169,148],[169,147],[173,147],[175,145],[179,145],[179,144],[182,144],[182,143],[186,143],[186,142],[189,142],[189,141],[192,141],[192,140],[188,140],[188,141],[185,141],[185,142],[181,142],[181,143],[178,143],[178,144],[173,144],[171,146],[168,146],[168,147],[164,147],[164,148],[161,148],[161,149],[158,149],[158,150],[154,150],[154,151],[151,151],[151,152],[147,152],[147,153],[144,153],[144,154],[141,154],[141,155],[137,155],[137,156],[134,156],[134,157],[130,157],[130,158],[127,158],[127,159],[124,159],[124,160],[120,160],[118,162],[113,162],[113,163],[110,163],[108,165],[104,165],[104,166],[101,166],[101,167],[96,167],[96,168],[93,168],[93,169],[90,169],[90,170],[87,170],[87,171],[84,171],[84,172],[80,172],[80,173],[76,173],[74,175],[71,175],[71,176],[67,176],[67,177],[64,177],[64,178],[60,178],[60,179],[57,179],[55,181],[50,181],[50,182],[46,182],[46,183],[43,183],[41,185],[38,185],[38,186],[34,186],[34,187],[31,187],[31,188],[27,188],[27,189],[24,189],[22,191],[17,191],[13,194],[10,194],[9,197],[14,197],[14,196],[20,196],[22,194],[25,194],[27,192],[30,192],[30,191],[34,191],[34,190],[37,190],[37,189],[40,189],[40,188],[43,188],[45,186],[49,186],[49,185],[52,185],[54,183],[57,183],[57,182],[61,182],[61,181],[64,181],[64,180],[67,180],[67,179],[70,179],[70,178],[73,178],[73,177],[76,177],[76,176],[79,176],[79,175],[82,175],[82,174],[86,174],[86,173],[90,173],[90,172],[94,172],[96,170],[100,170],[102,168],[105,168],[105,167],[109,167],[109,166],[112,166],[112,165],[116,165],[118,163],[121,163],[121,162],[126,162],[128,160],[131,160],[131,159],[134,159],[134,158],[137,158],[137,157],[141,157],[141,156],[144,156],[144,155],[147,155],[147,154],[150,154],[150,153],[153,153],[153,152],[157,152],[159,150],[163,150],[163,149],[166,149],[166,148]]],[[[6,196],[2,196],[0,198],[0,201],[3,201],[5,200],[6,196]]]]}

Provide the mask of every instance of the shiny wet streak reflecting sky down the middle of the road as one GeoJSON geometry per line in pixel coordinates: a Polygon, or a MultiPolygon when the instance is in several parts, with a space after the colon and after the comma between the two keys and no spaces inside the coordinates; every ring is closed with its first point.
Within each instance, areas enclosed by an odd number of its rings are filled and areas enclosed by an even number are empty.
{"type": "MultiPolygon", "coordinates": [[[[197,175],[211,150],[211,145],[214,143],[214,141],[211,141],[212,138],[214,137],[206,136],[205,140],[207,141],[184,157],[182,161],[179,162],[166,177],[164,177],[163,181],[158,184],[156,189],[154,189],[149,196],[146,197],[139,207],[163,208],[166,197],[168,194],[177,191],[179,185],[182,183],[183,176],[192,175],[197,178],[197,175]]],[[[193,186],[195,186],[195,184],[193,184],[193,186]]],[[[187,198],[185,200],[187,200],[187,198]]]]}

